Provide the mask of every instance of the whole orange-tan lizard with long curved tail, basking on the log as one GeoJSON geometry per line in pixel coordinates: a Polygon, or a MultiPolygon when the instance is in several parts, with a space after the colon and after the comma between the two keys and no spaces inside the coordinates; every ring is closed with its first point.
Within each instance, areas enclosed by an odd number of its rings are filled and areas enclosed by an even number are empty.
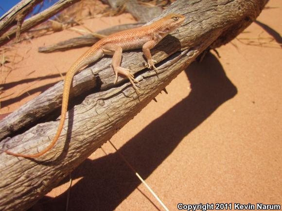
{"type": "Polygon", "coordinates": [[[155,67],[155,63],[157,61],[153,60],[150,50],[154,48],[162,38],[176,30],[176,28],[180,27],[184,20],[185,17],[183,15],[169,14],[149,25],[124,30],[100,39],[92,47],[90,47],[86,53],[80,56],[71,65],[71,68],[66,73],[62,98],[61,119],[55,137],[53,141],[49,144],[49,146],[41,152],[31,155],[17,154],[10,151],[5,152],[9,155],[18,157],[37,158],[52,149],[56,141],[60,137],[64,126],[73,76],[80,69],[87,66],[88,64],[97,61],[104,55],[113,56],[112,67],[115,72],[114,84],[118,80],[118,74],[122,74],[129,79],[133,88],[139,94],[139,89],[136,87],[135,83],[140,82],[134,78],[134,75],[130,73],[130,70],[121,67],[123,51],[142,49],[143,54],[147,59],[148,68],[154,68],[155,70],[158,70],[155,67]]]}

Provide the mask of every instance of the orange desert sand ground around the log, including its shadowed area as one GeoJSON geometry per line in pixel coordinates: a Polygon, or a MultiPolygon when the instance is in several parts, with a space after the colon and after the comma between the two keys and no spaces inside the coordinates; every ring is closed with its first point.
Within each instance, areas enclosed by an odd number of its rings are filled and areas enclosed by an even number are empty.
{"type": "MultiPolygon", "coordinates": [[[[159,94],[111,139],[169,210],[178,203],[282,205],[282,2],[267,6],[239,39],[218,49],[220,58],[210,53],[193,63],[168,95],[159,94]]],[[[132,22],[123,14],[85,24],[97,31],[132,22]]],[[[13,71],[1,72],[0,114],[62,79],[59,72],[88,48],[37,48],[74,36],[63,31],[15,46],[15,63],[7,64],[13,71]]],[[[72,173],[69,211],[163,210],[108,142],[103,150],[72,173]]],[[[65,210],[68,185],[66,178],[34,210],[65,210]]]]}

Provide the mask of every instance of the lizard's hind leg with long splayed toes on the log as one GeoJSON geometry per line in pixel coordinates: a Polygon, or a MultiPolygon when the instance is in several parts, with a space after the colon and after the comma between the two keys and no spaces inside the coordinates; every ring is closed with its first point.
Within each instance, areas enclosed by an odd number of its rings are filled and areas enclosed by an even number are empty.
{"type": "Polygon", "coordinates": [[[140,82],[135,80],[134,75],[130,73],[130,70],[121,67],[123,48],[116,44],[106,44],[102,47],[102,50],[107,55],[113,55],[112,65],[116,75],[114,84],[118,81],[118,73],[123,74],[129,79],[129,81],[131,82],[133,88],[137,91],[137,93],[139,93],[139,89],[136,87],[134,82],[135,83],[140,83],[140,82]]]}

